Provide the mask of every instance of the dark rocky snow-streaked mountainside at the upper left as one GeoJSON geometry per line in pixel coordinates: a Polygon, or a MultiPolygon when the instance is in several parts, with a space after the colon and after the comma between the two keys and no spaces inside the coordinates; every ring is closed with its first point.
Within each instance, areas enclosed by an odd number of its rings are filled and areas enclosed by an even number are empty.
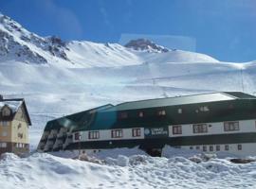
{"type": "Polygon", "coordinates": [[[65,43],[58,37],[42,38],[0,14],[0,60],[47,63],[53,56],[68,60],[65,43]]]}

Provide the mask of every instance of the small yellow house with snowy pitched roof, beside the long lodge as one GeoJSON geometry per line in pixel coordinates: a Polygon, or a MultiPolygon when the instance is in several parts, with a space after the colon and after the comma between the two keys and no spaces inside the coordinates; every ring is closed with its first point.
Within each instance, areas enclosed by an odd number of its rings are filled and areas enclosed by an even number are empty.
{"type": "Polygon", "coordinates": [[[0,95],[0,155],[29,151],[28,127],[31,121],[23,98],[4,99],[0,95]]]}

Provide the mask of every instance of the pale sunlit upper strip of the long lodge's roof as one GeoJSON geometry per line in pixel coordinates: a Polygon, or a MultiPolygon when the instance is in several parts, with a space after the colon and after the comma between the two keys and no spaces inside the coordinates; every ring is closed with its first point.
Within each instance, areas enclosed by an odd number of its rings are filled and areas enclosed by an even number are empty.
{"type": "MultiPolygon", "coordinates": [[[[242,94],[240,95],[242,96],[242,94]]],[[[234,95],[232,93],[193,94],[193,95],[183,95],[183,96],[175,96],[175,97],[167,97],[167,98],[156,98],[156,99],[125,102],[115,107],[112,107],[110,109],[106,109],[105,111],[108,112],[113,110],[125,111],[125,110],[134,110],[134,109],[147,109],[147,108],[156,108],[156,107],[205,103],[205,102],[213,102],[213,101],[234,100],[238,98],[239,98],[238,94],[234,95]]]]}

